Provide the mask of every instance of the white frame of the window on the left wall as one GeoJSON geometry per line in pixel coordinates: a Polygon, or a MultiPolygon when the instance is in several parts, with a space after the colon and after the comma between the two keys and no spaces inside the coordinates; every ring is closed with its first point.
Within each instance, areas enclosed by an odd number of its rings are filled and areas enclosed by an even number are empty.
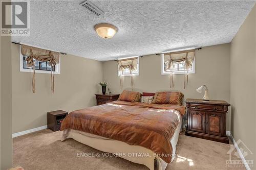
{"type": "MultiPolygon", "coordinates": [[[[22,48],[19,45],[19,71],[20,72],[33,72],[33,69],[28,69],[23,67],[23,55],[22,55],[22,48]]],[[[35,69],[36,73],[44,73],[44,74],[51,74],[51,71],[48,70],[39,70],[35,69]]],[[[53,71],[53,74],[59,75],[60,74],[60,58],[59,58],[59,63],[55,65],[55,71],[53,71]]]]}

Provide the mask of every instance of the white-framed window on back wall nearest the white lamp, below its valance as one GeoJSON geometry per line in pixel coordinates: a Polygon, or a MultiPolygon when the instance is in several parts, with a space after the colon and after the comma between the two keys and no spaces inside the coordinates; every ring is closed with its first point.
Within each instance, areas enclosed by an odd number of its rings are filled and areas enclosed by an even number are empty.
{"type": "MultiPolygon", "coordinates": [[[[165,63],[164,63],[164,55],[162,55],[161,60],[161,74],[162,75],[170,75],[170,69],[165,70],[165,63]]],[[[185,61],[180,63],[174,64],[173,74],[186,74],[187,70],[185,70],[185,61]]],[[[192,67],[188,69],[188,74],[195,74],[195,59],[193,61],[192,67]]]]}

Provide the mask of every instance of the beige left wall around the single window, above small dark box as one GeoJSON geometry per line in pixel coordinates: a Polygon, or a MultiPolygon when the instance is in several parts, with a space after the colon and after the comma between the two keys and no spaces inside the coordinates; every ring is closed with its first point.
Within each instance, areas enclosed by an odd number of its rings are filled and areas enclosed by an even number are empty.
{"type": "Polygon", "coordinates": [[[35,74],[32,92],[30,72],[19,71],[19,45],[12,44],[12,132],[25,131],[47,125],[47,112],[73,111],[96,105],[96,82],[102,81],[102,62],[64,55],[60,59],[60,75],[55,75],[52,94],[50,74],[35,74]]]}

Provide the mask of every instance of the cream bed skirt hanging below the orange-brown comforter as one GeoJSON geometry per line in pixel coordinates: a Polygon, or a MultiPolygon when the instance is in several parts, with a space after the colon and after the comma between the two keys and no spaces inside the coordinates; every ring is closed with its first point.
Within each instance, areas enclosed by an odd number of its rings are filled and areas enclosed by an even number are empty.
{"type": "MultiPolygon", "coordinates": [[[[176,144],[179,138],[179,132],[181,130],[182,121],[180,120],[175,133],[170,140],[173,147],[173,155],[176,153],[176,144]]],[[[139,145],[130,145],[125,142],[119,140],[113,140],[109,138],[105,138],[102,136],[77,131],[73,129],[67,129],[63,131],[61,141],[73,138],[74,140],[89,145],[92,148],[95,148],[99,151],[108,152],[112,154],[124,153],[125,156],[120,156],[123,159],[129,160],[134,163],[139,163],[147,166],[150,170],[164,170],[167,166],[167,163],[163,161],[158,156],[154,156],[154,152],[148,150],[144,147],[140,147],[139,145]],[[150,155],[150,157],[139,157],[139,156],[127,156],[129,153],[146,153],[150,155]]],[[[119,155],[118,155],[119,156],[119,155]]],[[[174,160],[174,156],[172,161],[174,160]]]]}

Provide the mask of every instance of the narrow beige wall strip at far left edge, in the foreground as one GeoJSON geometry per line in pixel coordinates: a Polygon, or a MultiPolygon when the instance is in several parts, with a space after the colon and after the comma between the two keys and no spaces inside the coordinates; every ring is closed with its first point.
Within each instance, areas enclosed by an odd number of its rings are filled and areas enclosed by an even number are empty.
{"type": "MultiPolygon", "coordinates": [[[[0,16],[1,17],[1,16],[0,16]]],[[[0,36],[1,47],[1,166],[9,169],[12,166],[12,89],[11,89],[11,37],[0,36]]]]}

